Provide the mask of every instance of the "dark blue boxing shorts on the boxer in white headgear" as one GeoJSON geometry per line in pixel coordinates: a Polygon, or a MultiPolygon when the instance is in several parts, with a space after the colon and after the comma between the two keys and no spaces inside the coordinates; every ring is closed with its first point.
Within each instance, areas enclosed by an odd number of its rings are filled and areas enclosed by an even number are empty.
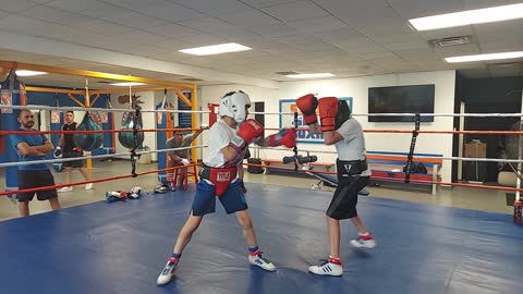
{"type": "MultiPolygon", "coordinates": [[[[228,215],[248,208],[245,195],[242,192],[243,181],[236,177],[229,184],[226,193],[218,197],[228,215]]],[[[207,180],[202,180],[196,186],[196,195],[193,200],[193,216],[203,217],[216,211],[216,186],[207,180]]]]}

